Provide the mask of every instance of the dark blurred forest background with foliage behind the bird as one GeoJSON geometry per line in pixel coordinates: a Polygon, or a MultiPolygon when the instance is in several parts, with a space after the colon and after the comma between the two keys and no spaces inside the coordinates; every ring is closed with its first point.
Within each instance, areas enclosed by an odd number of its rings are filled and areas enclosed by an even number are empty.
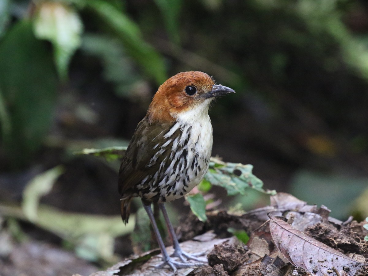
{"type": "MultiPolygon", "coordinates": [[[[127,145],[158,86],[189,70],[237,92],[210,111],[214,156],[339,219],[368,216],[367,1],[1,0],[0,256],[13,266],[0,272],[24,271],[24,239],[97,266],[131,252],[115,239],[134,227],[116,226],[119,162],[73,152],[127,145]],[[83,214],[123,230],[79,233],[83,214]]],[[[211,192],[220,208],[267,204],[211,192]]]]}

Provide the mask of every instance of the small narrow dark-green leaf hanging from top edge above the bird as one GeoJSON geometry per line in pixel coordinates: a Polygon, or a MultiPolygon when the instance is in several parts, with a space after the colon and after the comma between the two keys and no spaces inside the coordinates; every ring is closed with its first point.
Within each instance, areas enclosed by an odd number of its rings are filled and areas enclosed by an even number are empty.
{"type": "Polygon", "coordinates": [[[167,33],[170,40],[179,44],[180,43],[180,10],[183,4],[182,0],[155,0],[156,5],[159,7],[167,33]]]}

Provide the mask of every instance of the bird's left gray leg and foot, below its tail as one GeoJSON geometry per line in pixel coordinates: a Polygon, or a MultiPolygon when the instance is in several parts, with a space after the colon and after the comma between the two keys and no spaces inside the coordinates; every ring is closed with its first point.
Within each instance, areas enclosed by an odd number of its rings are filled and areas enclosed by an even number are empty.
{"type": "Polygon", "coordinates": [[[169,265],[171,267],[171,269],[174,270],[174,272],[178,269],[178,268],[188,268],[191,266],[196,266],[196,265],[202,265],[202,263],[182,263],[182,262],[176,262],[173,259],[170,258],[169,254],[167,254],[165,245],[162,241],[159,229],[157,227],[156,221],[155,221],[155,217],[153,216],[153,212],[152,212],[152,208],[151,205],[146,205],[143,202],[143,207],[146,210],[149,220],[151,221],[152,227],[153,227],[153,231],[155,232],[155,236],[156,236],[156,240],[159,244],[161,253],[162,253],[162,259],[163,259],[163,263],[158,265],[157,268],[162,268],[165,265],[169,265]]]}

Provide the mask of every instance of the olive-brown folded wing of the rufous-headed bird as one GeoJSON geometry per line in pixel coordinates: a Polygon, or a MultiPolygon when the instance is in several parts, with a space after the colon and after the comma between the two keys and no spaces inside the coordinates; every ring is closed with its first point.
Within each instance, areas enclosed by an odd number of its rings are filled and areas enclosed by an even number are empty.
{"type": "Polygon", "coordinates": [[[150,125],[146,117],[139,122],[119,170],[119,192],[123,199],[132,197],[134,186],[158,170],[162,158],[153,164],[149,162],[164,143],[163,136],[172,126],[173,123],[150,125]]]}

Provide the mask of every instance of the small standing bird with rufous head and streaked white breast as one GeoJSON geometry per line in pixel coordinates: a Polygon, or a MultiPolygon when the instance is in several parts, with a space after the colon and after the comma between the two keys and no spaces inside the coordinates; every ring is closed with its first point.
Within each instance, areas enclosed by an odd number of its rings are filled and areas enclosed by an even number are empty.
{"type": "Polygon", "coordinates": [[[175,272],[203,264],[198,255],[181,250],[164,203],[183,197],[204,178],[213,144],[210,103],[230,93],[235,91],[217,85],[200,71],[180,72],[167,79],[153,96],[122,158],[118,177],[121,218],[128,222],[131,200],[140,197],[162,253],[158,268],[168,265],[175,272]],[[153,203],[163,213],[174,248],[171,256],[155,222],[153,203]],[[190,263],[190,259],[197,262],[190,263]]]}

